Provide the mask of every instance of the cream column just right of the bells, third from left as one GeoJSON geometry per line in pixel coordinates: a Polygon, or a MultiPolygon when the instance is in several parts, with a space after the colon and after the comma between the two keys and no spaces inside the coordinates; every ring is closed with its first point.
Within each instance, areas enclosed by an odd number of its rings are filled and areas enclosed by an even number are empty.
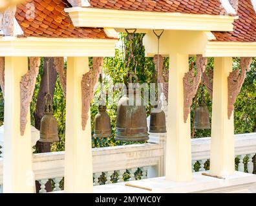
{"type": "Polygon", "coordinates": [[[190,118],[186,123],[183,118],[183,77],[189,71],[188,55],[170,55],[169,68],[165,176],[183,182],[192,176],[190,118]]]}

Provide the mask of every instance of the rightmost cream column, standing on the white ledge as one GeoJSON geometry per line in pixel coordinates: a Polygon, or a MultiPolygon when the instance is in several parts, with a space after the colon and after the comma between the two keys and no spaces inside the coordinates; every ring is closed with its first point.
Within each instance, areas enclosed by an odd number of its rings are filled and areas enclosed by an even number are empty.
{"type": "Polygon", "coordinates": [[[231,71],[231,57],[215,58],[210,173],[219,176],[235,173],[233,114],[228,119],[228,76],[231,71]]]}

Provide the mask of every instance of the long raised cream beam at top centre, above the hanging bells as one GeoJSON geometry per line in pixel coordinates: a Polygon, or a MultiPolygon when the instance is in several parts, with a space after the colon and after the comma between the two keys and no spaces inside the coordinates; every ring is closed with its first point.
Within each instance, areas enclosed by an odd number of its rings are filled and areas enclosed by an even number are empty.
{"type": "Polygon", "coordinates": [[[138,12],[99,8],[65,8],[74,26],[165,30],[232,31],[237,17],[229,15],[138,12]]]}

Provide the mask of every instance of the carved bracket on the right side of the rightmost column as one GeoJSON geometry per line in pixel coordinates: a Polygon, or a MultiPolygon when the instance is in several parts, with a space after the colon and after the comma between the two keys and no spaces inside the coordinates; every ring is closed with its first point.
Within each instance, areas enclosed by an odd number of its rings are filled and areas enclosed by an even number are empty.
{"type": "Polygon", "coordinates": [[[239,73],[239,69],[234,70],[229,73],[229,76],[228,76],[228,119],[230,119],[232,112],[234,110],[235,100],[242,88],[242,83],[244,83],[244,79],[246,77],[246,71],[250,70],[251,61],[252,61],[251,57],[241,57],[240,58],[240,67],[241,67],[240,73],[239,73]]]}

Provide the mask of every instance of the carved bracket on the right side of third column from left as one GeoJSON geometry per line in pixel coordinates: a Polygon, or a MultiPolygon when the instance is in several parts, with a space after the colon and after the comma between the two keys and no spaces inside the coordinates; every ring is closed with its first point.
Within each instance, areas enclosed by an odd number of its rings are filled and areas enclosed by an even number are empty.
{"type": "Polygon", "coordinates": [[[191,63],[191,70],[185,73],[183,77],[183,92],[184,92],[184,109],[183,118],[184,122],[187,122],[187,117],[190,114],[190,107],[192,100],[197,93],[200,80],[202,78],[202,72],[206,70],[207,58],[202,55],[197,55],[196,67],[197,75],[195,75],[195,69],[193,68],[193,62],[191,63]]]}

